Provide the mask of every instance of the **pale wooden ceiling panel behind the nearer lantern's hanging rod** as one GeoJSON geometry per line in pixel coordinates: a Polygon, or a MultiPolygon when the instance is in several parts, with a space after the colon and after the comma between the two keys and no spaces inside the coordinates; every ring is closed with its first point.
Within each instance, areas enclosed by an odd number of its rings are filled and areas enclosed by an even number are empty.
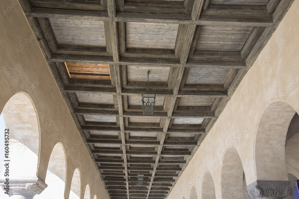
{"type": "Polygon", "coordinates": [[[146,81],[147,71],[149,71],[149,82],[167,82],[170,67],[157,66],[127,66],[127,80],[128,81],[146,81]]]}

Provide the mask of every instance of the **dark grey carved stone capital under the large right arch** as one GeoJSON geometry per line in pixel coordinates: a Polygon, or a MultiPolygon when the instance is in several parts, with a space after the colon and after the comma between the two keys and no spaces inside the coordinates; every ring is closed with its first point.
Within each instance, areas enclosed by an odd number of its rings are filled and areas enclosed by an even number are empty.
{"type": "Polygon", "coordinates": [[[290,181],[255,181],[246,186],[249,199],[282,199],[292,195],[290,181]]]}

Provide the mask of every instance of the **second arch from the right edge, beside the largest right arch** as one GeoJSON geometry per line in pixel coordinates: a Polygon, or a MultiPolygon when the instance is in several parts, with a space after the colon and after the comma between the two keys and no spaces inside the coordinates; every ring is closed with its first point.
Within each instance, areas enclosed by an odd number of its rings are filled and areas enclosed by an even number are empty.
{"type": "Polygon", "coordinates": [[[221,188],[222,199],[244,198],[243,166],[237,150],[226,150],[222,161],[221,188]]]}

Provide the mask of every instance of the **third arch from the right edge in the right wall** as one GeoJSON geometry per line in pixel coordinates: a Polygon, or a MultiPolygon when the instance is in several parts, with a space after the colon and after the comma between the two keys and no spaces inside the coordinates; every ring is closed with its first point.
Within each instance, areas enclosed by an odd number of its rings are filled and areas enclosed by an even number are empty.
{"type": "Polygon", "coordinates": [[[206,172],[202,178],[202,198],[216,199],[215,185],[210,172],[206,172]]]}

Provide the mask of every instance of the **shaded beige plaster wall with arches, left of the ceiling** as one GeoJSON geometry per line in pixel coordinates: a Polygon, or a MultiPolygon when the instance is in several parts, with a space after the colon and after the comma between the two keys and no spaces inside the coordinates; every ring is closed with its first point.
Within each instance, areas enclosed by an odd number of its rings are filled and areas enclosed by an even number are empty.
{"type": "Polygon", "coordinates": [[[65,198],[68,198],[75,168],[81,173],[81,198],[84,197],[87,183],[90,185],[91,195],[108,198],[36,38],[16,0],[1,0],[0,44],[0,110],[2,111],[6,102],[18,92],[25,92],[31,98],[40,126],[37,176],[45,181],[52,149],[60,142],[65,149],[67,164],[65,198]]]}

